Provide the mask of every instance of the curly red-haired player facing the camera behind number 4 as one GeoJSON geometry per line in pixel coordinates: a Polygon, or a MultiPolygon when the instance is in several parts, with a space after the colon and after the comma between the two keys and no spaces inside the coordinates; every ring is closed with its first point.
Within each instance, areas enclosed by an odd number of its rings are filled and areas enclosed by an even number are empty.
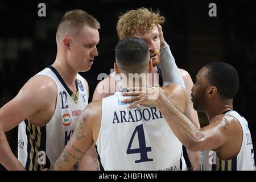
{"type": "MultiPolygon", "coordinates": [[[[164,17],[160,16],[159,12],[154,13],[146,8],[127,11],[127,13],[119,17],[117,23],[119,39],[122,40],[129,36],[137,36],[146,41],[150,51],[150,58],[153,60],[154,66],[151,73],[159,73],[159,80],[154,79],[154,76],[152,76],[153,85],[164,86],[174,83],[183,88],[185,87],[185,92],[187,94],[187,108],[185,110],[185,115],[200,128],[197,112],[193,109],[190,100],[191,88],[193,86],[192,79],[188,72],[177,68],[170,46],[168,46],[164,40],[162,27],[159,23],[164,23],[164,17]]],[[[93,94],[93,100],[101,100],[104,97],[114,94],[115,91],[122,90],[122,88],[123,85],[120,75],[113,72],[97,85],[93,94]]],[[[187,151],[193,169],[198,169],[199,152],[187,151]]],[[[96,158],[96,154],[94,155],[94,158],[96,158]]],[[[88,160],[85,163],[88,163],[88,160]]],[[[82,166],[85,167],[84,169],[88,169],[86,166],[91,168],[93,165],[89,163],[88,165],[85,164],[80,167],[82,166]]]]}

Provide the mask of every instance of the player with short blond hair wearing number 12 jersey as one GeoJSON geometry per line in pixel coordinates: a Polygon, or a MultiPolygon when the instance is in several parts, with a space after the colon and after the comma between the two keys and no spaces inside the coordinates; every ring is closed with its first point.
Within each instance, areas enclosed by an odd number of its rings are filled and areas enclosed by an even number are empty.
{"type": "Polygon", "coordinates": [[[88,84],[78,72],[88,71],[98,55],[98,28],[100,23],[85,11],[67,12],[56,32],[55,62],[0,109],[0,163],[5,168],[53,168],[88,104],[88,84]],[[18,159],[5,136],[17,125],[18,159]]]}

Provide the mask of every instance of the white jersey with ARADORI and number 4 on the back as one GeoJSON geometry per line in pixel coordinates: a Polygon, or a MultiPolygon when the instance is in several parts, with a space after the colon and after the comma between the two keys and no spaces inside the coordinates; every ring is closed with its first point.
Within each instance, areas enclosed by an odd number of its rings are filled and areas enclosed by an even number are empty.
{"type": "Polygon", "coordinates": [[[96,142],[101,170],[186,170],[182,144],[159,109],[127,108],[121,92],[102,100],[96,142]]]}

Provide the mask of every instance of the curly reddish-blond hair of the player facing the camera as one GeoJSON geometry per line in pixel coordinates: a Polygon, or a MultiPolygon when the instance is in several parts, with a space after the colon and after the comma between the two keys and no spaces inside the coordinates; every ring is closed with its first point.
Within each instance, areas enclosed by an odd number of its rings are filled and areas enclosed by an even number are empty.
{"type": "Polygon", "coordinates": [[[144,34],[147,30],[152,30],[156,24],[164,23],[164,16],[160,15],[159,10],[153,12],[152,9],[144,7],[127,11],[118,18],[117,33],[121,40],[136,33],[144,34]]]}

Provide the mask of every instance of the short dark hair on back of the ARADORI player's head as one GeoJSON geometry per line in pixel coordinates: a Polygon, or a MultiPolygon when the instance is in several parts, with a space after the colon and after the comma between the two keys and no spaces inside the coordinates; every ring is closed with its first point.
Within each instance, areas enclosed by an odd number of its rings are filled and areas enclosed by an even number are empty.
{"type": "Polygon", "coordinates": [[[115,46],[115,59],[118,68],[124,73],[142,73],[147,69],[150,55],[147,43],[137,37],[118,41],[115,46]]]}

